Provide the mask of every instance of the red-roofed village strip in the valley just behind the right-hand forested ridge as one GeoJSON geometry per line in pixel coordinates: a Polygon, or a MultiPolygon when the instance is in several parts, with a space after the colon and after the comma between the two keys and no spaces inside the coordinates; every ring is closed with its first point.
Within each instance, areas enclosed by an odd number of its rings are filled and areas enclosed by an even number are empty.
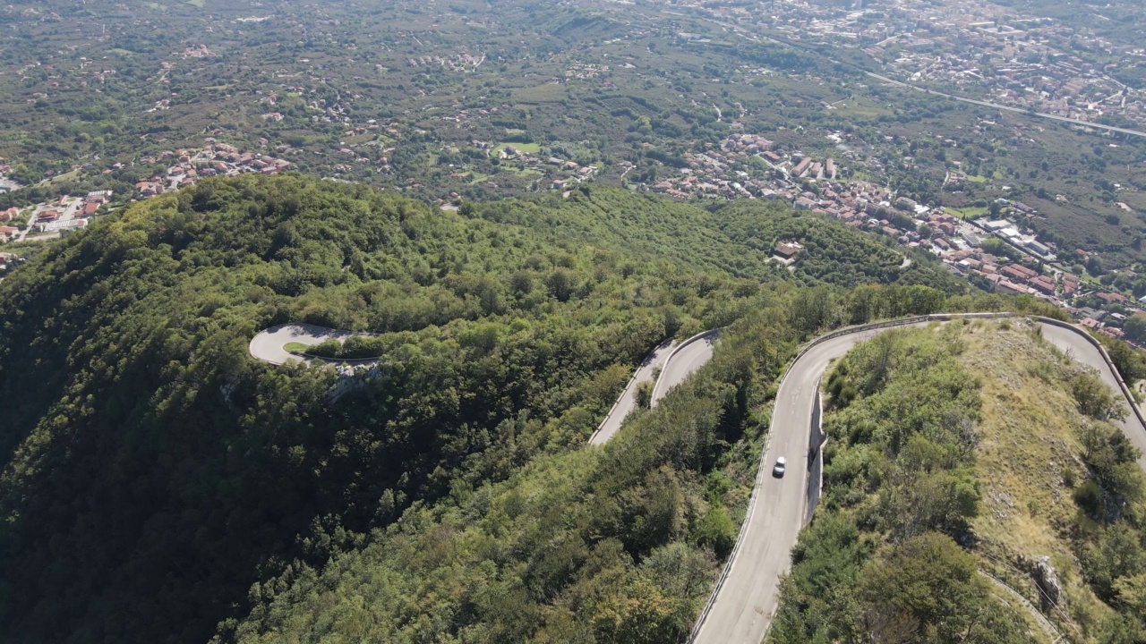
{"type": "MultiPolygon", "coordinates": [[[[833,136],[839,138],[829,135],[833,136]]],[[[859,163],[850,151],[843,158],[849,164],[859,163]]],[[[651,189],[676,198],[785,199],[796,210],[821,213],[853,228],[892,237],[906,249],[929,252],[949,270],[980,286],[1046,300],[1112,337],[1121,338],[1125,315],[1140,312],[1139,305],[1146,306],[1146,298],[1143,303],[1131,301],[1057,264],[1055,245],[1041,242],[1025,223],[1041,214],[1021,201],[999,198],[991,209],[997,217],[965,220],[942,207],[929,207],[870,181],[850,178],[850,168],[833,157],[778,150],[772,141],[754,134],[735,134],[719,149],[690,152],[684,159],[688,167],[651,189]],[[997,239],[988,244],[991,250],[997,252],[1002,243],[1011,257],[984,249],[984,239],[997,239]]],[[[794,261],[799,246],[782,246],[774,257],[785,264],[794,261]]]]}

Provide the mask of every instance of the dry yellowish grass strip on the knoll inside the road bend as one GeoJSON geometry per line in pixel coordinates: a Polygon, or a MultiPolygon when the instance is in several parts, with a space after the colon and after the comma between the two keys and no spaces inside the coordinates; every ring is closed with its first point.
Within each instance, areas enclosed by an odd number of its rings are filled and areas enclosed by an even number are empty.
{"type": "Polygon", "coordinates": [[[1076,430],[1085,418],[1066,385],[1078,368],[1026,324],[971,329],[963,361],[983,382],[978,463],[983,497],[973,527],[987,555],[984,566],[1034,599],[1037,590],[1029,576],[1008,565],[1020,557],[1049,556],[1069,606],[1069,613],[1053,615],[1055,622],[1082,635],[1085,625],[1109,616],[1110,608],[1083,581],[1070,545],[1080,509],[1068,481],[1086,476],[1076,430]]]}

